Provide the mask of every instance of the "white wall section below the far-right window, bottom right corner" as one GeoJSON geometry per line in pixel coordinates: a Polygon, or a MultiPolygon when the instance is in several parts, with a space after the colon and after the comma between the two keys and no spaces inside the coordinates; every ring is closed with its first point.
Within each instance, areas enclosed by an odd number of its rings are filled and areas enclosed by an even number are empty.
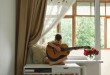
{"type": "Polygon", "coordinates": [[[101,59],[101,75],[110,75],[110,50],[102,50],[101,59]]]}

